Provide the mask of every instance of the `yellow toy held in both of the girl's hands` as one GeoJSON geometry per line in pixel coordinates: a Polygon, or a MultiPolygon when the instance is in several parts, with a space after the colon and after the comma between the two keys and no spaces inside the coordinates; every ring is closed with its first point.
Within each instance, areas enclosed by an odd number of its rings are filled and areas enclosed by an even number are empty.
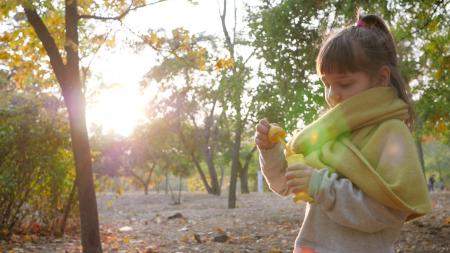
{"type": "MultiPolygon", "coordinates": [[[[286,131],[277,125],[270,125],[269,140],[271,142],[280,143],[285,148],[285,156],[288,166],[295,164],[305,164],[305,157],[302,154],[296,154],[284,141],[286,138],[286,131]]],[[[299,192],[294,194],[293,200],[295,203],[301,203],[302,201],[312,202],[314,199],[306,192],[299,192]]]]}

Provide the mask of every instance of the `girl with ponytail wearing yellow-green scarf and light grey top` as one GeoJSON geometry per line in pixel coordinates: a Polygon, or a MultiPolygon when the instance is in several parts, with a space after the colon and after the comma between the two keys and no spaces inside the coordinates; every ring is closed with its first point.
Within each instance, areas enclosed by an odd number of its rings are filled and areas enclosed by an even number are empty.
{"type": "Polygon", "coordinates": [[[403,223],[431,211],[393,37],[379,17],[358,15],[325,40],[316,67],[330,110],[288,143],[307,165],[287,166],[269,122],[256,127],[271,190],[314,199],[294,252],[393,253],[403,223]]]}

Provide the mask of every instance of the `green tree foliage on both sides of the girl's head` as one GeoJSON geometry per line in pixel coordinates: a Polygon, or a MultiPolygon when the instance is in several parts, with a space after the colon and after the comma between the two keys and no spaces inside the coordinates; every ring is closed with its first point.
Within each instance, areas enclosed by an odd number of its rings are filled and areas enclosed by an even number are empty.
{"type": "Polygon", "coordinates": [[[258,117],[295,128],[309,123],[324,105],[315,76],[315,57],[323,35],[355,22],[358,7],[382,16],[396,41],[406,80],[415,81],[423,132],[448,142],[450,118],[448,1],[295,1],[264,0],[249,8],[253,45],[266,68],[260,69],[258,117]]]}

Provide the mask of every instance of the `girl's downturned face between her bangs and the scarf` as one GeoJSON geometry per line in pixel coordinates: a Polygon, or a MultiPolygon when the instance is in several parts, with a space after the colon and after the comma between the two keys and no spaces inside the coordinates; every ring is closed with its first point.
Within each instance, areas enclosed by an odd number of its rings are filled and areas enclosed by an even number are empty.
{"type": "Polygon", "coordinates": [[[375,86],[365,72],[325,74],[321,79],[325,85],[325,100],[331,107],[375,86]]]}

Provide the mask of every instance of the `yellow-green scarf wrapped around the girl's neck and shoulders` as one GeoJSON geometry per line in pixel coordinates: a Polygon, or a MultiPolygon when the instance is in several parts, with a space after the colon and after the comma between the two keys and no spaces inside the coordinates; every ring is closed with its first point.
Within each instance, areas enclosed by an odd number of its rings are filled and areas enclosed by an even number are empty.
{"type": "Polygon", "coordinates": [[[308,165],[336,171],[380,203],[410,212],[409,220],[430,212],[431,202],[407,118],[395,89],[376,87],[337,105],[288,145],[308,165]]]}

